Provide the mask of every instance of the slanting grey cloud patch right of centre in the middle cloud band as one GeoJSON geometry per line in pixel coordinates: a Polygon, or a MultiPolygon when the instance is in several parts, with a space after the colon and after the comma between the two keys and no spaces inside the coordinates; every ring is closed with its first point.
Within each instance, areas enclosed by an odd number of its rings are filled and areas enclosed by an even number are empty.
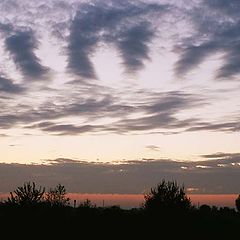
{"type": "Polygon", "coordinates": [[[186,108],[193,108],[204,104],[197,97],[182,94],[181,92],[168,92],[159,95],[152,102],[139,106],[143,113],[138,118],[125,118],[116,123],[118,131],[134,132],[160,129],[180,129],[192,126],[197,119],[178,119],[176,114],[186,108]]]}

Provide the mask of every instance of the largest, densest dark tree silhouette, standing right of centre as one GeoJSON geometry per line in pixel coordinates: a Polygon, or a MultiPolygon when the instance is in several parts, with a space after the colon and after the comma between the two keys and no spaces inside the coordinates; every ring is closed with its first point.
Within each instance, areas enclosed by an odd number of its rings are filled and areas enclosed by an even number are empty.
{"type": "Polygon", "coordinates": [[[186,211],[191,207],[191,200],[186,196],[184,186],[179,187],[176,181],[162,180],[157,187],[151,188],[144,199],[143,207],[150,211],[176,212],[186,211]]]}

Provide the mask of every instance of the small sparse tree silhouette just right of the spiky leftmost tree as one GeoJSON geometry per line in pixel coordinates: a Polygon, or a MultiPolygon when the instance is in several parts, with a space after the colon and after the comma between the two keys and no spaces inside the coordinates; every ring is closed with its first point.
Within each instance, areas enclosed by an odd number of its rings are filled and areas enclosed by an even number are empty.
{"type": "Polygon", "coordinates": [[[55,188],[50,188],[46,193],[46,202],[51,206],[67,206],[69,205],[70,198],[66,196],[67,192],[63,185],[58,184],[55,188]]]}

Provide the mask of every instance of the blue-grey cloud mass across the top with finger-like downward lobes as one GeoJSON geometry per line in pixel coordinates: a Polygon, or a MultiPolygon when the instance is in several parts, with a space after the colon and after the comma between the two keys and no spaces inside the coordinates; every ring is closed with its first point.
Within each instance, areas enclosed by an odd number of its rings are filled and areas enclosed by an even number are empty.
{"type": "Polygon", "coordinates": [[[103,45],[118,50],[126,73],[137,73],[151,60],[150,52],[156,51],[152,42],[157,39],[157,48],[173,45],[169,50],[178,57],[174,68],[178,78],[221,53],[216,79],[229,80],[240,73],[240,18],[239,2],[227,2],[203,0],[186,6],[174,1],[140,0],[43,1],[37,5],[10,1],[0,4],[8,16],[1,21],[0,31],[12,35],[7,37],[6,48],[28,78],[44,78],[49,72],[34,53],[38,47],[35,33],[48,31],[66,51],[68,72],[83,79],[97,78],[93,56],[103,45]],[[187,34],[179,29],[183,25],[187,34]]]}

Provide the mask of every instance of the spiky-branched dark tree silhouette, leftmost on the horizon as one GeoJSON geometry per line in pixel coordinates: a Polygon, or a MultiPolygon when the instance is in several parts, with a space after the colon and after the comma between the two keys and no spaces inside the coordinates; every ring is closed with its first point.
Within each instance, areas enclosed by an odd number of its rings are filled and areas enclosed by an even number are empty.
{"type": "Polygon", "coordinates": [[[37,205],[44,199],[45,188],[41,186],[36,188],[34,182],[25,182],[23,186],[17,187],[14,192],[10,192],[10,197],[7,199],[8,204],[19,206],[37,205]]]}

